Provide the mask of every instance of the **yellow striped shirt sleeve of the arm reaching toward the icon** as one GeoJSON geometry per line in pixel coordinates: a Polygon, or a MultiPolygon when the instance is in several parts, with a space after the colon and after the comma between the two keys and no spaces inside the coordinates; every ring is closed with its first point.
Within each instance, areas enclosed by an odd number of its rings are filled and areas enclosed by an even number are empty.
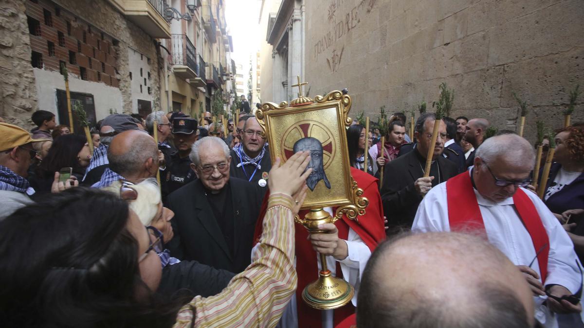
{"type": "Polygon", "coordinates": [[[174,327],[276,326],[297,284],[293,204],[290,196],[270,195],[252,264],[220,294],[195,296],[179,310],[174,327]]]}

